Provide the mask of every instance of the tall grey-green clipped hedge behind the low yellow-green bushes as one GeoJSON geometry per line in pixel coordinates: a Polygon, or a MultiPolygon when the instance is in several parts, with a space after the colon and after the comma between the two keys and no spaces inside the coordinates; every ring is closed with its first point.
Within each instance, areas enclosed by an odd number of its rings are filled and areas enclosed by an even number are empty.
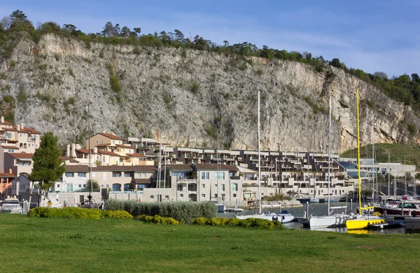
{"type": "Polygon", "coordinates": [[[109,199],[105,202],[109,210],[125,210],[132,216],[159,215],[172,217],[180,222],[192,223],[198,217],[214,218],[217,206],[214,202],[137,202],[136,200],[109,199]]]}

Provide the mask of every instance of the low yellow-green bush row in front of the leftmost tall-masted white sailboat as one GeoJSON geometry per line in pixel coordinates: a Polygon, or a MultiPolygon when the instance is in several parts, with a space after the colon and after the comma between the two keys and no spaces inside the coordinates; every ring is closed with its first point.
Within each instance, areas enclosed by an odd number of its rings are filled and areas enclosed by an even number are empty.
{"type": "Polygon", "coordinates": [[[227,219],[227,218],[211,218],[206,219],[204,217],[199,217],[194,219],[193,223],[195,225],[208,225],[208,226],[243,226],[246,228],[267,228],[272,230],[273,228],[283,228],[283,224],[280,221],[270,221],[267,219],[258,219],[258,218],[249,218],[249,219],[227,219]]]}

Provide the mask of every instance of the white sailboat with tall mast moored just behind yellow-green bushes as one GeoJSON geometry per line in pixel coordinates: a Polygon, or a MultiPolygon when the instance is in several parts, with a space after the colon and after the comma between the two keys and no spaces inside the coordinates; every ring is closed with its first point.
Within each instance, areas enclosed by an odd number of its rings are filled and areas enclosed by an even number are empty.
{"type": "Polygon", "coordinates": [[[295,219],[295,216],[289,214],[288,212],[284,211],[281,213],[267,213],[262,214],[261,208],[261,152],[260,152],[260,91],[258,91],[258,214],[249,214],[249,215],[237,215],[237,219],[249,219],[249,218],[258,218],[258,219],[266,219],[266,220],[277,220],[281,223],[288,223],[295,219]]]}

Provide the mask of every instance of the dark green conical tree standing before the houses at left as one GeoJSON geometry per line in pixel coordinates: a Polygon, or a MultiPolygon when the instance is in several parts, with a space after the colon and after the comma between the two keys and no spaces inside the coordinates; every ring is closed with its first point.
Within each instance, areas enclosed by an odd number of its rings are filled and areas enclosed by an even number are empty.
{"type": "MultiPolygon", "coordinates": [[[[57,147],[57,138],[51,132],[45,133],[41,138],[41,146],[36,149],[34,157],[34,168],[29,175],[31,181],[39,183],[41,191],[47,191],[54,182],[62,176],[66,170],[59,159],[60,149],[57,147]]],[[[40,202],[38,198],[38,204],[40,202]]]]}

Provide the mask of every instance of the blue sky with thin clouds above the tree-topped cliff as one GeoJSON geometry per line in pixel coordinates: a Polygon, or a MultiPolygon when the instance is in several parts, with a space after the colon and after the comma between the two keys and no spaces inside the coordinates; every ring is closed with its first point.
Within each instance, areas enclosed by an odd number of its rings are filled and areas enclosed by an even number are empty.
{"type": "Polygon", "coordinates": [[[365,72],[388,77],[420,74],[420,1],[134,1],[0,0],[0,17],[22,10],[34,25],[74,24],[85,33],[108,21],[141,27],[142,34],[179,29],[223,44],[311,52],[339,58],[365,72]]]}

